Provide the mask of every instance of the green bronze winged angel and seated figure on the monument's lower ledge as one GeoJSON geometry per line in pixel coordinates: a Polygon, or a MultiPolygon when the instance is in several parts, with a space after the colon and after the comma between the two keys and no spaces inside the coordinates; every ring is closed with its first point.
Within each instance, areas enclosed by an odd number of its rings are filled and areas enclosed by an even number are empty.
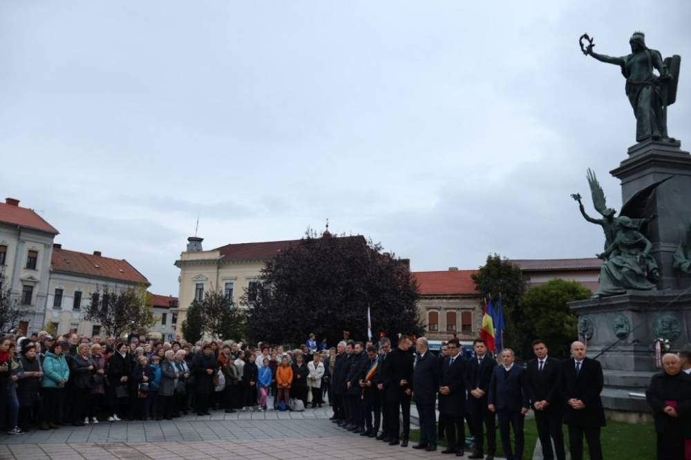
{"type": "MultiPolygon", "coordinates": [[[[625,294],[629,290],[655,289],[654,282],[659,279],[660,274],[657,263],[650,256],[652,243],[641,233],[641,227],[656,218],[656,215],[642,219],[622,215],[627,205],[632,202],[630,200],[616,217],[616,211],[607,207],[605,192],[595,173],[590,169],[588,169],[587,178],[593,205],[603,218],[594,219],[587,215],[578,193],[571,197],[578,201],[580,213],[583,214],[585,220],[600,225],[605,231],[605,251],[598,254],[598,258],[606,262],[600,270],[600,289],[594,297],[616,296],[625,294]]],[[[655,184],[657,185],[659,184],[655,184]]],[[[654,188],[646,190],[643,198],[650,195],[653,190],[654,188]]],[[[636,198],[633,200],[634,203],[641,200],[641,197],[634,198],[636,198]]]]}

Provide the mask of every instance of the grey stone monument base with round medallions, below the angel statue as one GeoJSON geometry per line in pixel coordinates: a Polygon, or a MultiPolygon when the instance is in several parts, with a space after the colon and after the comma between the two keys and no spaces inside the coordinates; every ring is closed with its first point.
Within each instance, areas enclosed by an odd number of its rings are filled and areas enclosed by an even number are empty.
{"type": "Polygon", "coordinates": [[[603,367],[605,409],[614,419],[647,419],[650,406],[643,395],[652,375],[661,372],[654,342],[666,338],[672,351],[691,343],[691,289],[630,292],[579,300],[569,307],[578,316],[578,336],[587,356],[603,367]]]}

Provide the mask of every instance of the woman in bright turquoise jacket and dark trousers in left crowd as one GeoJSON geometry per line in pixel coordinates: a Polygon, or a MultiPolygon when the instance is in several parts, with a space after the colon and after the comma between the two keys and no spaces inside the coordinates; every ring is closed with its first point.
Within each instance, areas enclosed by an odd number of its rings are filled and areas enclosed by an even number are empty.
{"type": "Polygon", "coordinates": [[[65,384],[70,378],[70,367],[62,354],[62,349],[66,345],[66,343],[55,342],[44,358],[44,376],[41,381],[44,417],[41,430],[59,428],[57,424],[62,419],[60,401],[65,392],[65,384]]]}

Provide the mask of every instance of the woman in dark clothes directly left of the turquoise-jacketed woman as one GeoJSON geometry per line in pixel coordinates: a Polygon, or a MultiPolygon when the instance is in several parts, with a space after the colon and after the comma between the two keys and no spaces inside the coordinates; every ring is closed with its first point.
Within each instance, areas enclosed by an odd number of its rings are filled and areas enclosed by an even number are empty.
{"type": "Polygon", "coordinates": [[[43,370],[41,361],[36,356],[36,346],[33,342],[24,342],[21,347],[21,368],[17,396],[19,398],[19,429],[30,430],[32,421],[38,421],[40,414],[41,377],[43,370]]]}

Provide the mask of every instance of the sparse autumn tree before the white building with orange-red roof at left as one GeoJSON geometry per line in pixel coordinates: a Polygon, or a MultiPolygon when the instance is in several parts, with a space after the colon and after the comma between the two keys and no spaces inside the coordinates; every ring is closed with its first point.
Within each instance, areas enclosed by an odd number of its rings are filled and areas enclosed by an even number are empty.
{"type": "Polygon", "coordinates": [[[146,334],[155,323],[153,303],[146,286],[114,290],[108,287],[91,294],[82,319],[100,324],[109,336],[135,332],[146,334]]]}

